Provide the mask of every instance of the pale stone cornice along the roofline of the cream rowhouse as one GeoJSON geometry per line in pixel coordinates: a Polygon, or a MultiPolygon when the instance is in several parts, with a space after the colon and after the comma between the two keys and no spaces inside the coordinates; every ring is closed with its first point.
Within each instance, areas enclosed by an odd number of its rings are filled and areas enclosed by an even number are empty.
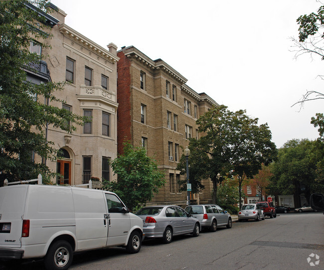
{"type": "Polygon", "coordinates": [[[87,49],[93,51],[94,53],[100,55],[101,57],[108,60],[109,62],[115,64],[119,60],[119,57],[112,54],[110,51],[104,49],[103,47],[101,47],[97,43],[93,42],[89,38],[85,37],[84,35],[80,34],[79,32],[75,31],[74,29],[67,26],[66,24],[60,24],[58,26],[58,28],[64,36],[66,36],[72,40],[75,40],[82,46],[84,46],[87,49]]]}

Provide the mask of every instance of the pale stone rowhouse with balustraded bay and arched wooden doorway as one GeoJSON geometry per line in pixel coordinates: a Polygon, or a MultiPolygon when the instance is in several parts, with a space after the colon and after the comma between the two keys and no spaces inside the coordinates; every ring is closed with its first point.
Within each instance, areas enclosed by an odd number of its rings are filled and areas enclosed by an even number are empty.
{"type": "MultiPolygon", "coordinates": [[[[64,23],[66,13],[50,4],[51,16],[58,23],[51,29],[53,37],[47,42],[52,49],[44,49],[45,61],[53,82],[71,81],[55,96],[64,103],[52,103],[81,116],[92,117],[92,123],[78,126],[68,134],[48,126],[47,140],[64,151],[62,160],[46,160],[52,171],[64,177],[53,179],[60,184],[87,183],[91,176],[115,179],[108,161],[117,153],[117,46],[105,49],[64,23]]],[[[37,74],[36,74],[37,75],[37,74]]],[[[35,157],[40,162],[40,157],[35,157]]]]}

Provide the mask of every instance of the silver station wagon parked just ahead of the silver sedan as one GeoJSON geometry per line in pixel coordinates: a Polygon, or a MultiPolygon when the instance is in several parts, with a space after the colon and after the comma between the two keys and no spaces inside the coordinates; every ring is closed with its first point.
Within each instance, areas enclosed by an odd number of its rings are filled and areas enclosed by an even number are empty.
{"type": "Polygon", "coordinates": [[[201,228],[208,228],[211,232],[215,232],[220,226],[232,228],[231,216],[218,205],[190,205],[185,211],[199,220],[201,228]]]}

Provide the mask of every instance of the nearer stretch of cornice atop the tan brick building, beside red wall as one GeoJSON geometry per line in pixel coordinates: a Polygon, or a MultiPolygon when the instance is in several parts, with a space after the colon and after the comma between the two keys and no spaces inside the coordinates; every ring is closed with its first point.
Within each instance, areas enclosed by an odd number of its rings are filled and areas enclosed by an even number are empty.
{"type": "Polygon", "coordinates": [[[165,72],[168,76],[177,80],[180,84],[186,83],[188,80],[183,77],[179,72],[177,72],[174,68],[169,66],[161,59],[152,60],[150,57],[139,51],[134,46],[130,46],[127,48],[123,48],[121,50],[128,58],[134,58],[137,61],[141,62],[142,65],[150,68],[152,70],[159,70],[161,69],[165,72]]]}

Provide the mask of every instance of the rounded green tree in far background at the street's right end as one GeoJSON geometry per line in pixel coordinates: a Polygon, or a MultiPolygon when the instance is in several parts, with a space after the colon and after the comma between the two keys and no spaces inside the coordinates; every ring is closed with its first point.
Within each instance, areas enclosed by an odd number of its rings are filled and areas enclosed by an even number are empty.
{"type": "MultiPolygon", "coordinates": [[[[323,152],[322,152],[323,153],[323,152]]],[[[300,194],[309,198],[313,192],[324,191],[323,178],[319,177],[319,155],[317,141],[292,139],[279,149],[278,160],[273,164],[273,177],[270,190],[283,195],[294,194],[299,200],[300,194]]],[[[298,201],[300,204],[300,201],[298,201]]]]}

